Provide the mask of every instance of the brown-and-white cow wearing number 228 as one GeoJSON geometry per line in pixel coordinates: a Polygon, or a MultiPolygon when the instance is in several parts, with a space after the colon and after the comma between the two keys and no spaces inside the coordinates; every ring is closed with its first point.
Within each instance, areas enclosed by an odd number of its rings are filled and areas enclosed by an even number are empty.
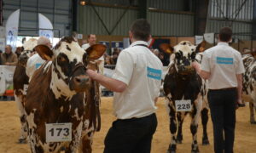
{"type": "Polygon", "coordinates": [[[187,114],[190,114],[192,117],[190,124],[190,131],[193,138],[191,152],[199,152],[197,127],[200,115],[203,125],[202,144],[209,144],[207,137],[208,109],[207,105],[205,105],[207,88],[205,81],[191,67],[192,62],[198,56],[197,53],[199,53],[200,48],[201,45],[196,47],[189,41],[182,41],[174,48],[167,50],[172,53],[169,70],[164,79],[166,107],[170,116],[170,131],[172,135],[171,144],[169,144],[167,150],[168,153],[175,153],[177,149],[176,144],[182,143],[183,119],[187,114]],[[179,102],[186,102],[186,104],[179,104],[179,102]],[[181,108],[187,108],[188,110],[177,111],[181,108]],[[177,136],[175,135],[176,132],[177,136]]]}

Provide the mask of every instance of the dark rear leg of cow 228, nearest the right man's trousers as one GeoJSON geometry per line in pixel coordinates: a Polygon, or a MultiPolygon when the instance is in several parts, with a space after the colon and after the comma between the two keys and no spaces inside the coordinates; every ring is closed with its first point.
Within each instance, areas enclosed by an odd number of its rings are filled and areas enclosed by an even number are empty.
{"type": "Polygon", "coordinates": [[[207,135],[207,122],[208,122],[208,109],[204,108],[201,111],[201,124],[203,127],[203,137],[202,137],[202,144],[207,145],[210,144],[208,140],[208,135],[207,135]]]}

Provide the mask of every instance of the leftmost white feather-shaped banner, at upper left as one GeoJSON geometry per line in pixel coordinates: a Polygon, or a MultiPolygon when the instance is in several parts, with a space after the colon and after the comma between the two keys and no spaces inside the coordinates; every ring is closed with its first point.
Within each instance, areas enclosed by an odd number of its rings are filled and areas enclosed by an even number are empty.
{"type": "Polygon", "coordinates": [[[18,29],[19,29],[20,9],[9,15],[6,21],[6,44],[12,46],[13,50],[16,48],[18,29]]]}

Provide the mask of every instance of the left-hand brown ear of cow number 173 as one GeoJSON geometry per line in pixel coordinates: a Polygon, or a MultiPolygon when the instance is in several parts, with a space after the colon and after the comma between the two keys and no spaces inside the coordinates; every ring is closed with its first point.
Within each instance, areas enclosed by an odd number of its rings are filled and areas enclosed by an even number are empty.
{"type": "Polygon", "coordinates": [[[46,45],[38,45],[34,48],[39,56],[44,60],[51,60],[53,57],[53,51],[46,45]]]}

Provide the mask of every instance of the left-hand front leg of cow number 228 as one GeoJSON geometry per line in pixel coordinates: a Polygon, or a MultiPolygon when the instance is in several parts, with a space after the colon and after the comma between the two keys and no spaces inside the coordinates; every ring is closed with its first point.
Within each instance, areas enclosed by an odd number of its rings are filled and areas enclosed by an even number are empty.
{"type": "Polygon", "coordinates": [[[175,106],[173,105],[172,101],[166,99],[166,108],[168,114],[170,116],[170,132],[171,132],[171,144],[169,144],[169,148],[167,153],[175,153],[176,152],[176,131],[177,131],[177,122],[175,116],[175,106]]]}

